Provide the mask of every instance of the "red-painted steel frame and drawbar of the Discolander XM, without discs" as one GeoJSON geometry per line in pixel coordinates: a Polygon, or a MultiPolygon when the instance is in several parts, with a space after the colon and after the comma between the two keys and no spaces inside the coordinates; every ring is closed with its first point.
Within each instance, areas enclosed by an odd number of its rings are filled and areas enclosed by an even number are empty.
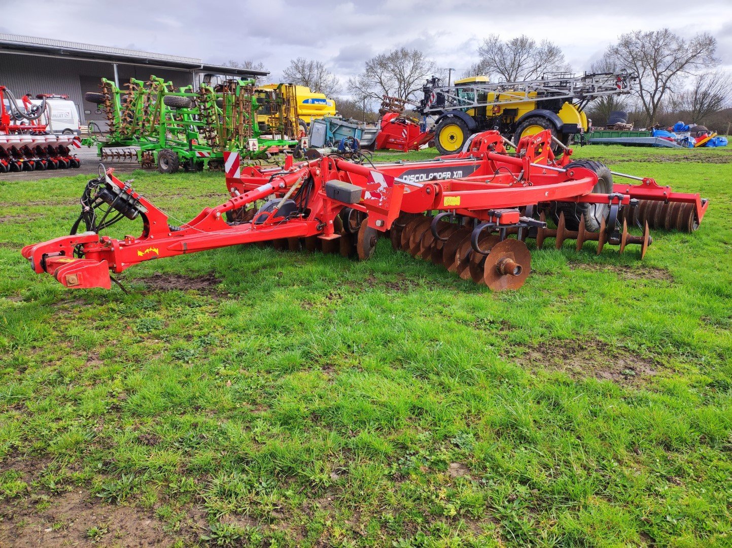
{"type": "Polygon", "coordinates": [[[137,199],[143,212],[139,237],[116,240],[94,233],[59,237],[23,248],[36,273],[49,273],[67,287],[111,286],[110,271],[120,273],[132,264],[162,257],[195,253],[228,245],[239,245],[291,237],[339,237],[334,221],[344,207],[367,213],[368,226],[385,232],[401,212],[454,211],[459,215],[512,224],[519,220],[518,208],[548,201],[583,201],[628,204],[630,199],[672,200],[696,204],[698,221],[706,212],[706,201],[698,194],[673,193],[653,179],[639,185],[615,185],[617,196],[592,193],[597,184],[594,171],[580,167],[564,169],[567,160],[557,162],[550,149],[548,131],[522,139],[523,155],[507,155],[498,132],[480,133],[471,149],[458,155],[427,162],[397,162],[375,168],[356,165],[340,158],[325,157],[307,163],[285,163],[285,168],[242,167],[239,177],[227,177],[232,197],[217,207],[206,207],[192,221],[172,230],[168,215],[140,196],[130,185],[107,171],[107,181],[137,199]],[[458,177],[464,175],[462,177],[458,177]],[[269,213],[262,223],[232,223],[225,213],[253,204],[268,196],[282,198],[294,185],[308,177],[313,190],[307,215],[283,219],[269,213]],[[326,196],[325,184],[337,179],[362,188],[357,204],[326,196]],[[420,179],[427,179],[421,180],[420,179]],[[75,251],[81,249],[83,258],[75,251]]]}

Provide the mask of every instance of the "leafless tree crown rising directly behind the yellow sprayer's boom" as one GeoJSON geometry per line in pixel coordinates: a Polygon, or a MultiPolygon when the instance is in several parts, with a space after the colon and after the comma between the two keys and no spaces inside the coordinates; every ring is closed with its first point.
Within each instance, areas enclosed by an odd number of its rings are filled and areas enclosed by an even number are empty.
{"type": "Polygon", "coordinates": [[[548,40],[537,44],[525,34],[505,42],[498,34],[490,34],[478,48],[478,54],[480,61],[471,70],[479,70],[507,82],[535,80],[545,73],[569,70],[558,45],[548,40]]]}

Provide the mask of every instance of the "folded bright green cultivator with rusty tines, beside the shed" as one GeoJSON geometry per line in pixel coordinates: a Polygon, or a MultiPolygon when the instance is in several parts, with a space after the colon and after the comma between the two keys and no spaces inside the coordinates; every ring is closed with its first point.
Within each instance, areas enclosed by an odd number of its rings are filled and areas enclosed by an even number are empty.
{"type": "Polygon", "coordinates": [[[108,134],[89,136],[83,144],[96,146],[102,160],[136,160],[143,168],[173,173],[223,169],[224,152],[261,163],[285,149],[299,155],[297,141],[287,138],[286,116],[280,124],[260,129],[257,114],[283,111],[283,97],[272,89],[257,89],[253,80],[229,80],[212,87],[201,84],[173,90],[171,82],[151,76],[132,78],[127,89],[102,78],[101,92],[84,98],[105,113],[108,134]]]}

